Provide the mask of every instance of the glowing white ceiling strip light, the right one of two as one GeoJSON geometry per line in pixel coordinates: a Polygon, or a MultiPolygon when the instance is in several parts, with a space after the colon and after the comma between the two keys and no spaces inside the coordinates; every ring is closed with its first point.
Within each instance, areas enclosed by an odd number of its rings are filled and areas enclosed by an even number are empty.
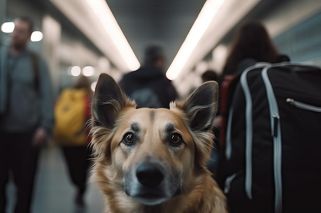
{"type": "Polygon", "coordinates": [[[169,66],[166,77],[170,80],[174,80],[178,74],[182,71],[185,63],[192,54],[198,41],[204,35],[205,31],[210,26],[213,18],[218,12],[219,8],[223,5],[225,0],[207,0],[199,12],[190,32],[186,36],[182,46],[178,50],[173,62],[169,66]]]}

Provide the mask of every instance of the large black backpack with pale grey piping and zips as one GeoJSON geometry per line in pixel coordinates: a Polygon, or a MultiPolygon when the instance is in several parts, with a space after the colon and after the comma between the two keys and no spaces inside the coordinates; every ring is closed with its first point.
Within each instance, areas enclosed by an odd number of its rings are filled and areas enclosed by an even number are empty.
{"type": "Polygon", "coordinates": [[[240,76],[217,176],[231,213],[321,212],[321,70],[255,64],[240,76]]]}

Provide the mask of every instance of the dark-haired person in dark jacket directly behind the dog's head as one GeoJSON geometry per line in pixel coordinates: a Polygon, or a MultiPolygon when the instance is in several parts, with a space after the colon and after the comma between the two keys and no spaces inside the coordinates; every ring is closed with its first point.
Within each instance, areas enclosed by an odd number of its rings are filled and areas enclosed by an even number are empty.
{"type": "Polygon", "coordinates": [[[177,98],[172,82],[164,74],[165,57],[160,46],[148,46],[144,65],[123,76],[119,86],[137,103],[137,108],[169,108],[177,98]]]}

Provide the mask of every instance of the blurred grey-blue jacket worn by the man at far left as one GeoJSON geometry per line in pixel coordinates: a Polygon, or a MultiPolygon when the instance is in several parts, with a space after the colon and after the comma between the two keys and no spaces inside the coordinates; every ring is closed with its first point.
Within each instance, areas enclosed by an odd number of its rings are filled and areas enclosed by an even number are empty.
{"type": "Polygon", "coordinates": [[[53,92],[46,63],[38,59],[38,88],[31,53],[9,56],[0,47],[0,131],[26,132],[53,127],[53,92]]]}

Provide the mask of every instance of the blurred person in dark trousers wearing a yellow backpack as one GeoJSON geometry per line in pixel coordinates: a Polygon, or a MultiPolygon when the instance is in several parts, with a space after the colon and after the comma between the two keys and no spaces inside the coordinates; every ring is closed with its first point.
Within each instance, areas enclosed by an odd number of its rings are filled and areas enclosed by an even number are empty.
{"type": "Polygon", "coordinates": [[[93,92],[90,80],[79,76],[72,88],[62,91],[55,105],[55,142],[62,148],[70,180],[76,187],[74,198],[78,206],[84,207],[84,194],[90,166],[91,147],[89,129],[93,92]]]}

